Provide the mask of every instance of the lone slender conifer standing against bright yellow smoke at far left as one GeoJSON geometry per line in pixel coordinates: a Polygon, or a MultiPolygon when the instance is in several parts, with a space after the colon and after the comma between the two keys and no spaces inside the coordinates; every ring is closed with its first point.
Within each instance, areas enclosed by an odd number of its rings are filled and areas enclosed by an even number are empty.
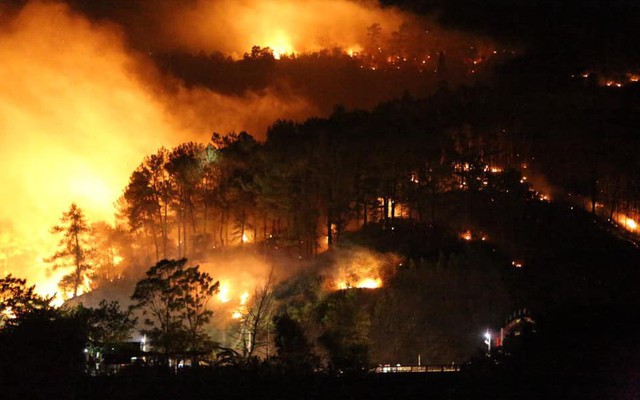
{"type": "Polygon", "coordinates": [[[53,269],[73,268],[58,285],[60,289],[73,293],[71,297],[75,298],[82,285],[90,279],[93,270],[90,261],[93,249],[89,245],[91,229],[84,212],[75,203],[71,204],[69,211],[62,214],[60,222],[61,225],[51,228],[52,233],[62,235],[59,250],[45,261],[52,263],[53,269]]]}

